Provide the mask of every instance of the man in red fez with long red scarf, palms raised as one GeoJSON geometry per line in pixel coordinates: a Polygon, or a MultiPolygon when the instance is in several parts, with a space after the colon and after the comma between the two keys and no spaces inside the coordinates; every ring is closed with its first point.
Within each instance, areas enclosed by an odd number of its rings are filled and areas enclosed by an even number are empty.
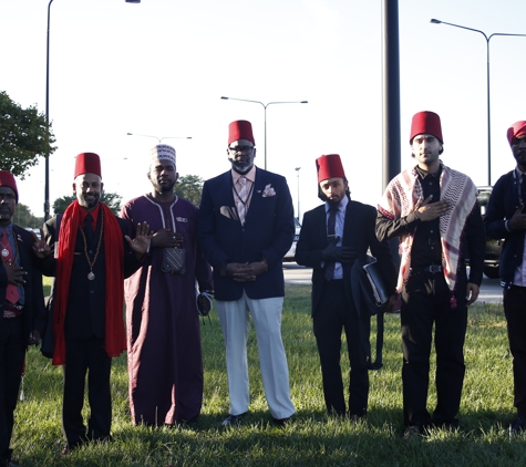
{"type": "Polygon", "coordinates": [[[44,224],[47,276],[54,277],[53,365],[63,365],[63,454],[86,442],[111,439],[112,357],[126,350],[123,320],[124,278],[141,267],[149,245],[149,227],[138,225],[130,238],[127,225],[101,203],[101,160],[94,153],[76,156],[76,199],[44,224]],[[82,417],[84,384],[91,408],[87,430],[82,417]]]}

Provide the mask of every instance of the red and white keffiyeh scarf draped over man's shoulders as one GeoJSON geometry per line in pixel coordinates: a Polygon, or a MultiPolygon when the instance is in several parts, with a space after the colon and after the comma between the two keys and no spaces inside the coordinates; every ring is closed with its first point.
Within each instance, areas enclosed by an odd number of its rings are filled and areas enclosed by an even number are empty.
{"type": "MultiPolygon", "coordinates": [[[[467,217],[476,206],[477,189],[472,179],[453,170],[441,163],[440,177],[441,199],[450,203],[451,209],[440,218],[440,236],[442,243],[442,269],[451,291],[455,290],[461,243],[467,217]]],[[[406,169],[394,177],[380,204],[378,210],[389,219],[400,219],[419,209],[424,201],[422,185],[416,166],[406,169]]],[[[400,237],[400,273],[396,292],[401,293],[411,271],[411,248],[414,231],[400,237]]],[[[453,303],[454,304],[454,303],[453,303]]]]}

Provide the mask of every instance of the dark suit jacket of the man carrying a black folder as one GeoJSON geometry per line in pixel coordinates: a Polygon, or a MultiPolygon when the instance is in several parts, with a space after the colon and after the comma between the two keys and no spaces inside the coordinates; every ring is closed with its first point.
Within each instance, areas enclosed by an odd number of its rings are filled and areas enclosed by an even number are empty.
{"type": "MultiPolygon", "coordinates": [[[[377,220],[377,209],[372,206],[363,205],[358,201],[349,200],[345,210],[345,221],[343,226],[342,246],[352,249],[354,258],[370,253],[377,258],[385,271],[384,278],[389,289],[395,289],[396,269],[391,256],[391,250],[386,242],[380,242],[374,234],[377,220]]],[[[314,315],[320,305],[321,292],[323,289],[324,269],[322,268],[322,250],[329,245],[327,238],[327,214],[324,205],[306,212],[303,215],[303,225],[298,243],[296,246],[296,261],[298,264],[311,267],[312,269],[312,315],[314,315]]],[[[343,280],[345,293],[349,303],[352,303],[351,297],[351,267],[353,260],[343,263],[343,280]]]]}

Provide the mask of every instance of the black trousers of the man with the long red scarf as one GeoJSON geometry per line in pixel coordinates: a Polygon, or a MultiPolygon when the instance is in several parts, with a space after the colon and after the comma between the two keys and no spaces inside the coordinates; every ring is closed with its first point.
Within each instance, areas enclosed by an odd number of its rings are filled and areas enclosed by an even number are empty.
{"type": "Polygon", "coordinates": [[[103,339],[66,339],[62,430],[70,448],[86,440],[110,438],[112,425],[111,367],[112,359],[104,350],[103,339]],[[86,372],[87,399],[91,408],[87,433],[82,418],[86,372]]]}

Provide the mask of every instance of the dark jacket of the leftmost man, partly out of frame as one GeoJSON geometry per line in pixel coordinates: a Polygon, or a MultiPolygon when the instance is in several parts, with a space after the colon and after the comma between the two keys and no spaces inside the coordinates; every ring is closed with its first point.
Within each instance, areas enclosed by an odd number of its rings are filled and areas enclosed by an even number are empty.
{"type": "MultiPolygon", "coordinates": [[[[34,238],[31,232],[16,225],[13,225],[13,232],[17,238],[18,251],[20,255],[20,266],[28,273],[24,276],[25,283],[23,284],[25,295],[23,308],[23,325],[25,339],[29,341],[29,335],[31,332],[37,330],[42,334],[45,324],[42,274],[37,268],[39,261],[32,250],[34,238]]],[[[6,269],[0,267],[0,325],[3,325],[7,322],[7,320],[1,319],[1,316],[3,316],[7,287],[8,274],[6,269]]]]}

